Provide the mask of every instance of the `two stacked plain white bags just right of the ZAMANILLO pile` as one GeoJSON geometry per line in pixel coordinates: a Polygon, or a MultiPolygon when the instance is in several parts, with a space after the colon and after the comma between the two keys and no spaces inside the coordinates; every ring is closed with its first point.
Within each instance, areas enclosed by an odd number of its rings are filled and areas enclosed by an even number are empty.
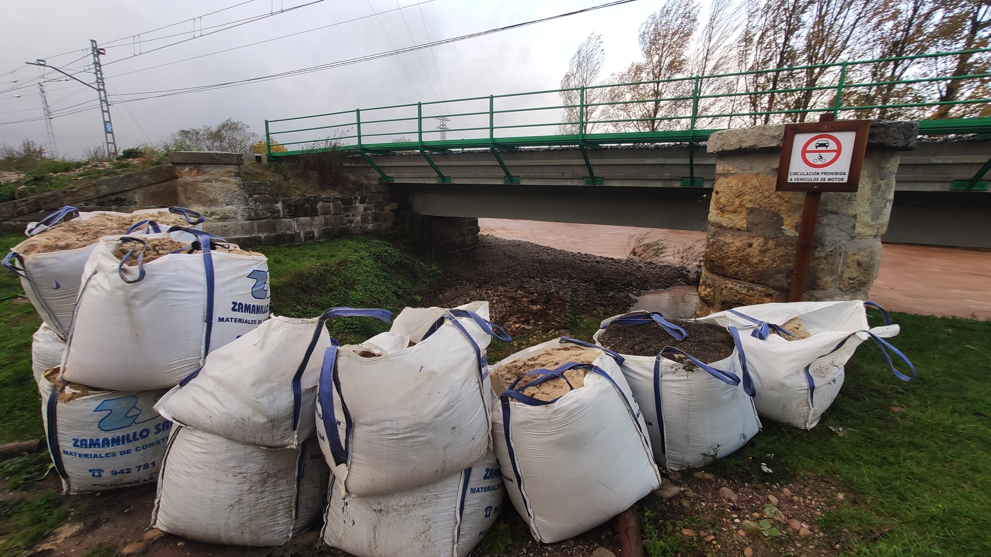
{"type": "Polygon", "coordinates": [[[327,502],[330,470],[315,438],[317,381],[336,343],[328,320],[383,310],[273,317],[218,348],[159,402],[176,426],[152,523],[211,543],[282,545],[327,502]]]}

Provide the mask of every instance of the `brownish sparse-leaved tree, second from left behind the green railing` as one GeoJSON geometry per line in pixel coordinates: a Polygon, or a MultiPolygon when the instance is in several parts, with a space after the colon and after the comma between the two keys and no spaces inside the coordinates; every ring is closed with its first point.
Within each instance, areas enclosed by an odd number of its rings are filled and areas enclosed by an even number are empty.
{"type": "Polygon", "coordinates": [[[666,0],[660,10],[640,25],[643,59],[613,74],[613,83],[638,83],[610,89],[613,120],[625,120],[617,130],[654,132],[681,127],[679,120],[692,108],[692,71],[689,48],[699,27],[699,5],[694,0],[666,0]]]}

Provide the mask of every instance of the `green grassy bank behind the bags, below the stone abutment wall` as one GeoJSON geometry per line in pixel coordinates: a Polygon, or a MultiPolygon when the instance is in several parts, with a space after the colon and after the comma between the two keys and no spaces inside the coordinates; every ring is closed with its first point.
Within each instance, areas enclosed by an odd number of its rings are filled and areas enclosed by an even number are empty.
{"type": "MultiPolygon", "coordinates": [[[[269,257],[272,312],[291,318],[315,318],[338,306],[383,308],[395,315],[419,304],[421,293],[439,274],[392,244],[369,237],[258,250],[269,257]]],[[[388,324],[342,318],[329,327],[343,343],[363,341],[387,330],[388,324]]]]}

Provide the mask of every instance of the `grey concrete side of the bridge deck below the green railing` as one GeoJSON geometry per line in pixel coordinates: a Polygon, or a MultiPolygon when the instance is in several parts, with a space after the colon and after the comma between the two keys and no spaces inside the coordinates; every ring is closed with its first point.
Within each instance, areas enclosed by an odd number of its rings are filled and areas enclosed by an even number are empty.
{"type": "MultiPolygon", "coordinates": [[[[588,149],[602,185],[587,185],[588,168],[577,147],[500,152],[518,184],[487,150],[430,153],[449,183],[418,152],[369,155],[409,191],[413,210],[441,217],[522,219],[705,231],[716,156],[697,147],[695,175],[703,187],[681,185],[689,176],[689,149],[614,147],[588,149]],[[564,187],[567,186],[567,187],[564,187]]],[[[991,157],[991,141],[920,142],[902,153],[889,230],[884,241],[991,247],[991,194],[950,191],[991,157]]],[[[371,179],[379,174],[364,159],[346,164],[371,179]]]]}

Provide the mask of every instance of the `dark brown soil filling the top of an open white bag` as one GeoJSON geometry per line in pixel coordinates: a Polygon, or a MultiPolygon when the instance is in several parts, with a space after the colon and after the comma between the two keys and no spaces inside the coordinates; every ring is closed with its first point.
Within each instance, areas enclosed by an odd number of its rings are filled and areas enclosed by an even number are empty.
{"type": "MultiPolygon", "coordinates": [[[[676,340],[668,331],[656,324],[609,325],[600,342],[609,350],[631,356],[656,356],[665,346],[684,350],[703,363],[712,363],[733,353],[733,337],[725,328],[693,321],[671,322],[688,331],[684,340],[676,340]]],[[[677,352],[666,352],[664,357],[690,363],[677,352]]]]}

